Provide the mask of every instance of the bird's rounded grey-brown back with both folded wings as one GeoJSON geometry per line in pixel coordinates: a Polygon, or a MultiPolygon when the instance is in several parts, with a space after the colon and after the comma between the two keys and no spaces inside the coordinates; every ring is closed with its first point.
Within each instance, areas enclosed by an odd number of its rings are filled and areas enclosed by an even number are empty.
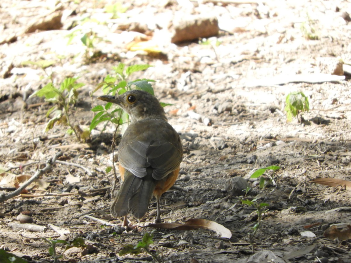
{"type": "Polygon", "coordinates": [[[161,180],[176,170],[182,160],[183,149],[178,133],[162,120],[139,121],[131,124],[119,145],[118,159],[122,166],[137,177],[146,175],[146,168],[161,180]]]}

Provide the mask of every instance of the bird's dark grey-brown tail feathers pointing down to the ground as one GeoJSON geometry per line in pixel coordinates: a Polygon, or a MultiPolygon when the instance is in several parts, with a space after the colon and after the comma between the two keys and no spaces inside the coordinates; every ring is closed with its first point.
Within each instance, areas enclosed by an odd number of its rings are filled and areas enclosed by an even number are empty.
{"type": "Polygon", "coordinates": [[[139,178],[125,170],[124,181],[111,206],[113,216],[120,217],[131,213],[136,218],[142,218],[146,214],[156,187],[152,171],[152,168],[147,168],[146,176],[139,178]]]}

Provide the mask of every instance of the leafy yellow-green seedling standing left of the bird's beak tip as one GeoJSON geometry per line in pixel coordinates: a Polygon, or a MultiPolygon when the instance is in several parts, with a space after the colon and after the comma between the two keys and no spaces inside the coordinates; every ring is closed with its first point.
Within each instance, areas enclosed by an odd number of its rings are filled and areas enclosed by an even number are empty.
{"type": "Polygon", "coordinates": [[[84,86],[83,83],[77,83],[77,79],[68,77],[59,88],[56,88],[51,82],[34,92],[30,97],[45,97],[46,101],[54,104],[46,113],[47,117],[51,114],[52,118],[46,124],[45,132],[52,129],[56,123],[62,123],[69,126],[68,133],[74,133],[79,141],[86,141],[90,136],[90,131],[81,130],[78,124],[74,124],[70,120],[72,108],[78,100],[77,89],[84,86]]]}

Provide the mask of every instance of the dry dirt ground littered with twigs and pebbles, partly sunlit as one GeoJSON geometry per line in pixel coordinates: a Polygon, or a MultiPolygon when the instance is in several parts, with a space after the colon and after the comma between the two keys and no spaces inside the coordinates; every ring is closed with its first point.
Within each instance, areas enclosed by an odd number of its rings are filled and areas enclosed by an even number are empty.
{"type": "MultiPolygon", "coordinates": [[[[42,237],[80,237],[89,249],[71,248],[60,262],[153,260],[144,252],[118,255],[151,229],[124,231],[122,218],[111,218],[114,174],[105,169],[112,160],[113,127],[100,134],[104,127],[99,125],[88,144],[79,144],[65,126],[55,125],[45,133],[46,112],[52,106],[29,98],[51,81],[59,85],[65,77],[79,76],[85,86],[78,90],[72,122],[88,128],[94,116],[90,109],[101,104],[96,99],[101,93],[92,99],[90,93],[123,62],[153,65],[133,79],[156,80],[155,96],[174,104],[165,110],[181,136],[184,160],[174,187],[161,198],[163,222],[205,218],[232,232],[227,239],[204,229],[158,229],[150,246],[163,262],[266,262],[249,259],[259,251],[271,251],[274,262],[351,262],[347,238],[323,236],[330,225],[350,224],[350,191],[302,184],[319,177],[350,180],[351,82],[346,66],[351,63],[351,3],[148,2],[123,3],[127,11],[112,19],[104,11],[111,4],[107,1],[1,1],[0,166],[11,168],[8,173],[14,175],[31,176],[59,151],[62,155],[61,162],[40,177],[41,186],[27,189],[27,197],[0,203],[0,249],[28,262],[53,262],[42,237]],[[63,13],[58,28],[30,30],[57,12],[63,13]],[[157,36],[179,14],[216,16],[219,35],[208,45],[198,40],[174,45],[157,36]],[[135,21],[146,27],[145,35],[154,37],[161,55],[127,50],[136,35],[119,26],[135,21]],[[80,41],[87,32],[96,36],[90,48],[80,41]],[[53,62],[45,70],[25,62],[40,60],[53,62]],[[345,78],[332,79],[330,68],[340,61],[345,78]],[[327,80],[319,73],[327,73],[327,80]],[[302,75],[309,79],[288,81],[302,75]],[[310,80],[313,76],[317,81],[310,80]],[[303,113],[302,123],[287,122],[285,97],[292,91],[302,91],[309,99],[310,111],[303,113]],[[276,185],[260,189],[258,179],[250,179],[252,171],[273,164],[281,168],[276,185]],[[240,202],[243,196],[232,196],[224,187],[234,176],[250,183],[247,197],[269,204],[254,237],[254,252],[249,236],[256,211],[240,202]],[[20,214],[31,216],[44,231],[11,227],[19,223],[20,214]]],[[[0,181],[0,190],[8,194],[14,187],[0,181]]],[[[152,223],[155,207],[152,200],[143,220],[130,217],[133,225],[152,223]]],[[[58,245],[57,250],[63,253],[64,247],[58,245]]]]}

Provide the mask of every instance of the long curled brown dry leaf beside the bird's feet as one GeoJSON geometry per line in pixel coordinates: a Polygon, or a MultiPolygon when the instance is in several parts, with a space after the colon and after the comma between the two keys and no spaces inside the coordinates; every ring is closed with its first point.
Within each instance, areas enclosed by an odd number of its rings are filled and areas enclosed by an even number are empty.
{"type": "Polygon", "coordinates": [[[220,237],[231,238],[232,233],[229,229],[221,224],[211,220],[193,218],[185,222],[185,224],[178,223],[158,223],[150,224],[145,227],[161,228],[161,229],[174,229],[174,230],[192,230],[192,229],[209,229],[215,231],[220,237]]]}

